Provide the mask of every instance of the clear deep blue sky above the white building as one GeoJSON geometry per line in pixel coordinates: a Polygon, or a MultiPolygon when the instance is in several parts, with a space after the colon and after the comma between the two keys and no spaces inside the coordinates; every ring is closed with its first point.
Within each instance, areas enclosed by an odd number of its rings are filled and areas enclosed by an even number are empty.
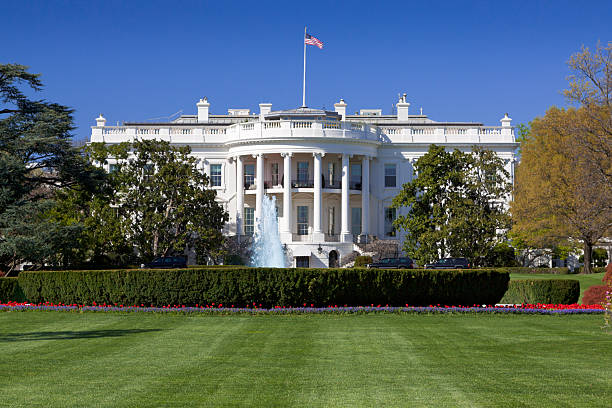
{"type": "Polygon", "coordinates": [[[513,124],[564,105],[566,61],[612,40],[612,1],[27,1],[2,0],[0,62],[42,73],[41,98],[73,107],[78,139],[94,118],[307,105],[439,121],[513,124]],[[227,5],[226,5],[227,4],[227,5]]]}

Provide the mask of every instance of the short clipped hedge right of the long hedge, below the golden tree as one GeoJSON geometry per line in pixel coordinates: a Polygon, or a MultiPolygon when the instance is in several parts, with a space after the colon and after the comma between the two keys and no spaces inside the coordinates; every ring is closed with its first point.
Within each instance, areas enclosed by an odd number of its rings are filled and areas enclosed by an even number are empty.
{"type": "Polygon", "coordinates": [[[576,279],[519,279],[510,281],[500,303],[569,305],[577,303],[579,297],[580,282],[576,279]]]}

